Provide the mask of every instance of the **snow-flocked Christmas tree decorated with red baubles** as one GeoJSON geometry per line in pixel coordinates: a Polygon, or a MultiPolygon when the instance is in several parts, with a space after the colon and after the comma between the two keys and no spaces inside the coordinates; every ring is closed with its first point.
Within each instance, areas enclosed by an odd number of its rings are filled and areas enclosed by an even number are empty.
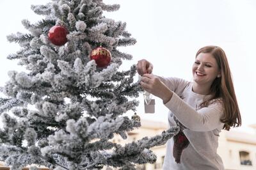
{"type": "Polygon", "coordinates": [[[149,150],[177,134],[172,127],[154,137],[125,146],[112,143],[114,134],[140,127],[125,116],[136,111],[141,92],[134,82],[136,66],[120,70],[131,54],[118,47],[134,45],[125,23],[107,19],[102,12],[118,4],[100,0],[52,0],[31,9],[44,19],[31,24],[29,33],[8,36],[21,49],[18,59],[27,72],[10,71],[1,91],[0,158],[12,169],[38,164],[50,169],[135,169],[154,163],[149,150]]]}

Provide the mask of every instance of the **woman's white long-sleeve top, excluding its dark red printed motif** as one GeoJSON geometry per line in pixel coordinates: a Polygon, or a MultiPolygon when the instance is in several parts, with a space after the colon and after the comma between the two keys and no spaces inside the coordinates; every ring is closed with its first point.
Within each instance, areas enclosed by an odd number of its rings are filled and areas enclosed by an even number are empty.
{"type": "Polygon", "coordinates": [[[223,162],[217,154],[218,137],[224,125],[220,121],[223,115],[221,100],[200,108],[210,96],[193,92],[192,82],[174,77],[160,79],[174,92],[170,101],[164,104],[169,109],[168,123],[176,125],[174,114],[187,127],[183,132],[189,140],[188,148],[182,151],[180,164],[173,158],[173,138],[168,140],[163,170],[223,170],[223,162]]]}

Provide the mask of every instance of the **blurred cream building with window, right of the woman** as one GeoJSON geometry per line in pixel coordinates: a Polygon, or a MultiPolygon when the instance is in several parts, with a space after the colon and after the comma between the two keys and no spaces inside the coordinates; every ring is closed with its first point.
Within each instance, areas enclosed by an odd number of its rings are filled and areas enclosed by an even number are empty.
{"type": "MultiPolygon", "coordinates": [[[[256,129],[256,125],[252,125],[256,129]]],[[[218,154],[226,169],[256,169],[256,133],[247,134],[223,130],[220,134],[218,154]]]]}

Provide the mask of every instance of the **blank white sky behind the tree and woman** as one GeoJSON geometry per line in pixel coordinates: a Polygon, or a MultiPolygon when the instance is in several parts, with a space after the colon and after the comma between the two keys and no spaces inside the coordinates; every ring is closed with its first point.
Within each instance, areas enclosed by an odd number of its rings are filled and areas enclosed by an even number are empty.
{"type": "MultiPolygon", "coordinates": [[[[36,22],[39,15],[31,4],[45,4],[46,0],[0,1],[0,86],[8,81],[9,70],[22,70],[8,54],[20,49],[9,43],[6,35],[25,32],[22,19],[36,22]]],[[[108,0],[118,3],[120,10],[106,13],[106,17],[127,22],[127,31],[136,38],[136,45],[121,50],[132,54],[132,61],[124,61],[123,69],[145,58],[154,64],[154,73],[192,80],[191,66],[195,54],[205,45],[218,45],[225,50],[232,71],[243,128],[256,123],[256,1],[243,0],[108,0]]],[[[156,98],[156,97],[155,97],[156,98]]],[[[138,114],[141,118],[167,122],[168,110],[156,98],[156,113],[144,114],[143,97],[138,114]]]]}

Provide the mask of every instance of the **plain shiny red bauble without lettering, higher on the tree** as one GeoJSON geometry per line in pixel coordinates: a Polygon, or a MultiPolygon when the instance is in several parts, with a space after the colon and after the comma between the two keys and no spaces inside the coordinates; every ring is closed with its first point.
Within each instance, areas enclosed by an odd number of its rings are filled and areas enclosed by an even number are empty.
{"type": "Polygon", "coordinates": [[[63,26],[53,26],[49,30],[48,38],[54,45],[64,45],[67,40],[68,30],[63,26]]]}

